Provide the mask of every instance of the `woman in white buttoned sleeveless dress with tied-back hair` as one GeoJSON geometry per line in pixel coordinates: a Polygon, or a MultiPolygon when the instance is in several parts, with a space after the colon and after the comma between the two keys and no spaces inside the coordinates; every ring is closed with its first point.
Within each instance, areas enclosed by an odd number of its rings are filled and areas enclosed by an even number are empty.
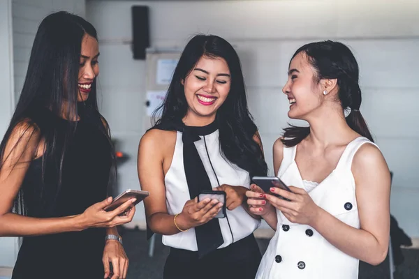
{"type": "Polygon", "coordinates": [[[358,278],[359,260],[388,252],[390,172],[360,113],[358,63],[341,43],[309,43],[295,52],[284,93],[290,126],[273,146],[274,171],[291,201],[247,192],[252,213],[276,232],[256,278],[358,278]],[[345,117],[345,112],[350,113],[345,117]]]}

